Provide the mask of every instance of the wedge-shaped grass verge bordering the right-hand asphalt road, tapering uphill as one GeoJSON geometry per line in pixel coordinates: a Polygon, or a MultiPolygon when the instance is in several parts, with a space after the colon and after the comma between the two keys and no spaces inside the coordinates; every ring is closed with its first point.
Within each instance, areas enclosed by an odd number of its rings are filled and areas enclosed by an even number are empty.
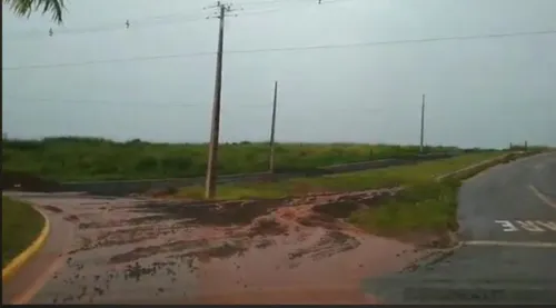
{"type": "Polygon", "coordinates": [[[496,165],[534,153],[536,152],[508,153],[499,159],[453,173],[441,180],[419,182],[401,190],[379,207],[353,212],[349,222],[383,236],[404,237],[409,234],[445,236],[447,231],[456,231],[458,228],[457,196],[465,179],[496,165]]]}

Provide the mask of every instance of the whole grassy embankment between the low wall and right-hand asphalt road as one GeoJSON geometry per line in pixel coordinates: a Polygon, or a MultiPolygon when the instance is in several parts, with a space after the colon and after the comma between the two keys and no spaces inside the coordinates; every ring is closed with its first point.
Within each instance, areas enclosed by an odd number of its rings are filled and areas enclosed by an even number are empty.
{"type": "MultiPolygon", "coordinates": [[[[525,155],[530,155],[527,152],[525,155]]],[[[360,171],[321,178],[299,178],[272,183],[230,183],[218,188],[220,199],[280,198],[315,191],[356,191],[404,186],[401,192],[379,206],[351,212],[348,221],[386,236],[445,234],[457,229],[457,191],[466,178],[524,155],[504,151],[464,155],[413,166],[360,171]],[[498,158],[498,159],[497,159],[498,158]],[[479,163],[489,161],[488,163],[479,163]],[[475,166],[475,167],[471,167],[475,166]],[[437,180],[439,176],[468,168],[465,172],[437,180]]],[[[178,197],[199,198],[201,187],[188,187],[178,197]]]]}

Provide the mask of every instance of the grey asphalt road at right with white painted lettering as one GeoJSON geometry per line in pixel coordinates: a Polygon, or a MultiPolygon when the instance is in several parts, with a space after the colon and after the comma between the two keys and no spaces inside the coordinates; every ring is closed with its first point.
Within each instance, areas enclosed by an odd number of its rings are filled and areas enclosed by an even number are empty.
{"type": "Polygon", "coordinates": [[[556,304],[555,152],[465,182],[458,219],[459,249],[364,288],[391,304],[556,304]]]}

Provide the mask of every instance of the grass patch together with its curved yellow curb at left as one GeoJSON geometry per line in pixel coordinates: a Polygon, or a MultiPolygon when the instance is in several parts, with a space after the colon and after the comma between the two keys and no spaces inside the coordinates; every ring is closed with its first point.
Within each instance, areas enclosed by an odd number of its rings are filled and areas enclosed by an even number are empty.
{"type": "Polygon", "coordinates": [[[2,282],[44,245],[50,222],[32,206],[2,196],[2,282]]]}

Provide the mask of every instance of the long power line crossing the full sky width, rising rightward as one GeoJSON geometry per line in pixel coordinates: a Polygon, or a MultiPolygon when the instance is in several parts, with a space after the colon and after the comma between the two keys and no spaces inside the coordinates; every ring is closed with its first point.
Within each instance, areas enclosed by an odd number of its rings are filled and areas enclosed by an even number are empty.
{"type": "MultiPolygon", "coordinates": [[[[249,49],[248,50],[229,50],[229,51],[225,51],[224,53],[260,53],[260,52],[304,51],[304,50],[319,50],[319,49],[364,48],[364,47],[373,47],[373,46],[410,44],[410,43],[426,43],[426,42],[437,42],[437,41],[458,41],[458,40],[478,40],[478,39],[498,39],[498,38],[510,38],[510,37],[546,36],[546,34],[555,34],[555,33],[556,33],[556,30],[545,30],[545,31],[530,31],[530,32],[438,37],[438,38],[426,38],[426,39],[406,39],[406,40],[356,42],[356,43],[340,43],[340,44],[282,47],[282,48],[250,49],[250,50],[249,49]]],[[[20,67],[6,67],[6,68],[2,68],[2,70],[10,71],[10,70],[23,70],[23,69],[81,67],[81,66],[89,66],[89,64],[137,62],[137,61],[149,61],[149,60],[171,59],[171,58],[191,58],[191,57],[201,57],[201,56],[214,56],[214,54],[216,54],[215,51],[201,51],[201,52],[192,52],[192,53],[142,56],[142,57],[132,57],[132,58],[90,60],[90,61],[82,61],[82,62],[68,62],[68,63],[57,63],[57,64],[32,64],[32,66],[20,66],[20,67]]]]}

